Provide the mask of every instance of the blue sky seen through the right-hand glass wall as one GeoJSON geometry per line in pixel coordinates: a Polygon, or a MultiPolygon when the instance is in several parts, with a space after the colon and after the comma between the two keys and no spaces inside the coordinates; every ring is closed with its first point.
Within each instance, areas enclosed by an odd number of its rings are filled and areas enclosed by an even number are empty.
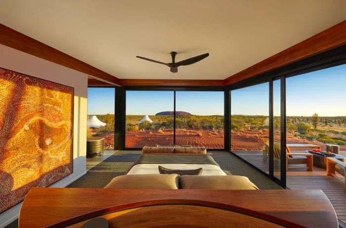
{"type": "MultiPolygon", "coordinates": [[[[277,81],[278,82],[278,81],[277,81]]],[[[279,115],[280,86],[274,82],[274,115],[279,115]]],[[[232,114],[268,115],[269,83],[232,91],[232,114]]],[[[346,65],[286,79],[286,115],[346,115],[346,65]]]]}

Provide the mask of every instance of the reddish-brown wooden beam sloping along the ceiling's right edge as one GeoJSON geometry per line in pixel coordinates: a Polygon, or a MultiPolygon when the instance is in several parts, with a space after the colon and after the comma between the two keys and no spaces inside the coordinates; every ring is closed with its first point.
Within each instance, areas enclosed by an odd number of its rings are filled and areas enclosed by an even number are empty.
{"type": "Polygon", "coordinates": [[[224,79],[230,85],[346,44],[346,21],[224,79]]]}

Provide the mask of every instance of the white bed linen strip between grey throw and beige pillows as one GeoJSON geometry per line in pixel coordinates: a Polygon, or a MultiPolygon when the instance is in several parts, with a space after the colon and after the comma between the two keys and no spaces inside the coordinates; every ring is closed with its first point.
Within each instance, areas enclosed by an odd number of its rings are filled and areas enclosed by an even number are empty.
{"type": "Polygon", "coordinates": [[[134,165],[127,175],[133,174],[159,174],[159,165],[168,169],[199,169],[203,168],[202,176],[219,175],[225,176],[225,172],[222,171],[217,165],[211,164],[137,164],[134,165]]]}

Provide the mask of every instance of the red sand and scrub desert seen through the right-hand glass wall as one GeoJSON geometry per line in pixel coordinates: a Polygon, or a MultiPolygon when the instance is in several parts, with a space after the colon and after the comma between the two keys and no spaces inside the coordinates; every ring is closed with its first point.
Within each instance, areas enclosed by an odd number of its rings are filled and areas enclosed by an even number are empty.
{"type": "MultiPolygon", "coordinates": [[[[231,149],[262,151],[269,141],[269,118],[259,115],[231,116],[231,149]]],[[[346,151],[346,117],[287,116],[287,144],[314,144],[326,150],[326,144],[339,145],[346,151]]],[[[279,117],[274,117],[274,139],[280,136],[279,117]]]]}

